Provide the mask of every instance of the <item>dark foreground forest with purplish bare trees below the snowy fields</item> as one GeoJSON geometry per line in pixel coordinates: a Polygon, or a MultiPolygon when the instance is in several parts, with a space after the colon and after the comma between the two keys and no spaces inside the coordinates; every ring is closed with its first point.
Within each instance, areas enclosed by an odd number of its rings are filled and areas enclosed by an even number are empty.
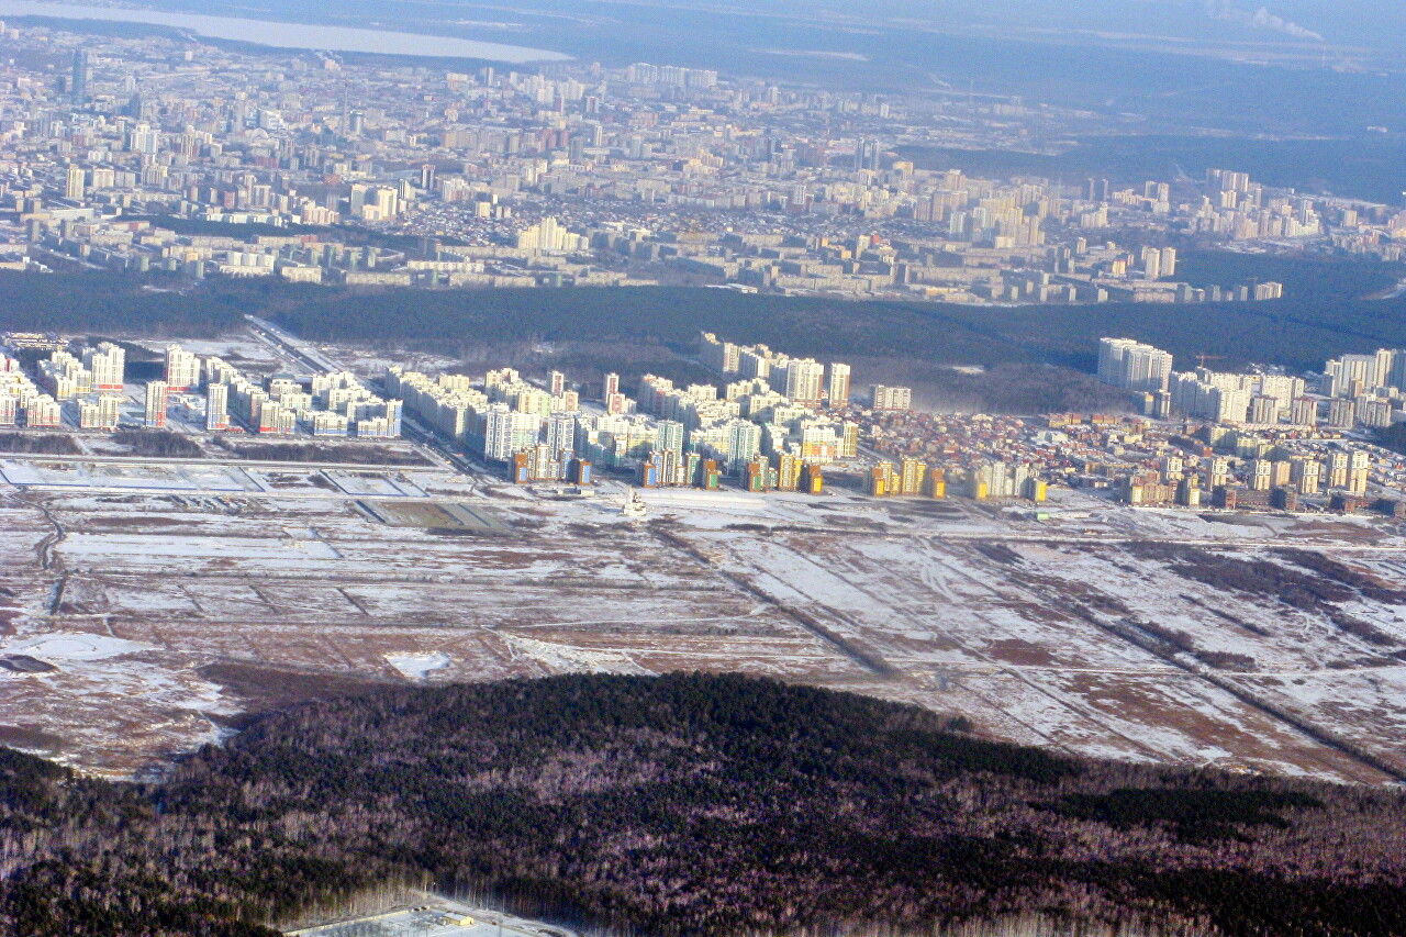
{"type": "Polygon", "coordinates": [[[253,937],[423,885],[657,937],[1406,933],[1399,791],[962,729],[776,681],[598,674],[294,706],[160,782],[0,750],[0,930],[253,937]]]}

